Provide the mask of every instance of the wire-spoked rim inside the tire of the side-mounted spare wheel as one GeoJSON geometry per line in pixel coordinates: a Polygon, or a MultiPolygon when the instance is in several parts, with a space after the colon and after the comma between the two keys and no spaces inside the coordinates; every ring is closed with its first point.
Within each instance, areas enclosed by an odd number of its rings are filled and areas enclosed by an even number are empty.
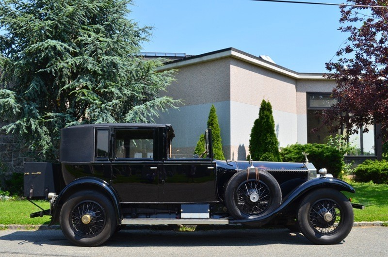
{"type": "Polygon", "coordinates": [[[256,179],[242,182],[236,194],[237,207],[247,215],[259,215],[271,204],[271,193],[268,186],[256,179]]]}

